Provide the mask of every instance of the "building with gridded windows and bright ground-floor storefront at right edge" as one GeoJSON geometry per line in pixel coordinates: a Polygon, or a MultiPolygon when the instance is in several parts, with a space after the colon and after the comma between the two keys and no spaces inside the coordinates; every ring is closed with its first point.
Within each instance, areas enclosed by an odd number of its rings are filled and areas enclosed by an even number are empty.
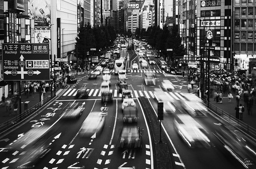
{"type": "Polygon", "coordinates": [[[233,1],[233,57],[235,70],[248,70],[256,59],[256,2],[233,1]]]}

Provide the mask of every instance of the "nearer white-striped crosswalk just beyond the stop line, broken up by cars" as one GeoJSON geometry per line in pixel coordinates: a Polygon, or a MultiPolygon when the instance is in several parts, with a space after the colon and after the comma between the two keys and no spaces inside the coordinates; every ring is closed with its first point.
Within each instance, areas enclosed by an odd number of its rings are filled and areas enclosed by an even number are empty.
{"type": "MultiPolygon", "coordinates": [[[[78,89],[65,89],[62,92],[59,92],[59,96],[76,96],[78,89]]],[[[101,91],[100,89],[88,89],[88,96],[89,98],[94,98],[94,97],[100,97],[101,96],[101,91]]],[[[114,98],[121,98],[122,94],[118,92],[118,90],[110,90],[111,93],[113,93],[114,98]]],[[[169,97],[170,99],[175,99],[175,100],[185,100],[183,93],[179,92],[165,92],[166,96],[169,97]]],[[[137,90],[132,90],[132,97],[133,98],[138,98],[138,97],[146,97],[146,98],[155,98],[154,92],[153,91],[137,91],[137,90]]]]}

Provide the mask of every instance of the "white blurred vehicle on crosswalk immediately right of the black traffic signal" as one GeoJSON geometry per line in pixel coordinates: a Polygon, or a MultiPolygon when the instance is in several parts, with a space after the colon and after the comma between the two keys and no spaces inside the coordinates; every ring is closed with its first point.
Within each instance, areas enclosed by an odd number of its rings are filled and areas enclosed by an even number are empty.
{"type": "Polygon", "coordinates": [[[154,96],[158,102],[163,102],[164,112],[175,112],[176,108],[174,105],[174,100],[173,98],[170,98],[166,92],[162,91],[162,89],[156,88],[154,91],[154,96]]]}

